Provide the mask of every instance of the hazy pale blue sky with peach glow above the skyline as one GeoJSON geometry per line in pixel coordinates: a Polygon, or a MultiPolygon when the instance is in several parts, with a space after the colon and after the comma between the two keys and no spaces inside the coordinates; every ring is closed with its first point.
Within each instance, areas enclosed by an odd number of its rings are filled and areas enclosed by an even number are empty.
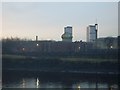
{"type": "Polygon", "coordinates": [[[96,19],[98,37],[118,35],[117,2],[3,2],[2,37],[59,41],[71,25],[73,40],[86,41],[86,27],[96,19]]]}

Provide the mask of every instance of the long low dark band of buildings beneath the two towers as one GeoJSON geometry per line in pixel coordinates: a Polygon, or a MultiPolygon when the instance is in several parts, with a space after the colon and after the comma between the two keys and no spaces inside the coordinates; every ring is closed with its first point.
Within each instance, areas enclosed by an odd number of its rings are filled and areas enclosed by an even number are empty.
{"type": "Polygon", "coordinates": [[[118,38],[99,38],[95,42],[63,42],[63,41],[15,41],[3,40],[3,54],[26,55],[75,55],[102,56],[117,55],[118,38]]]}

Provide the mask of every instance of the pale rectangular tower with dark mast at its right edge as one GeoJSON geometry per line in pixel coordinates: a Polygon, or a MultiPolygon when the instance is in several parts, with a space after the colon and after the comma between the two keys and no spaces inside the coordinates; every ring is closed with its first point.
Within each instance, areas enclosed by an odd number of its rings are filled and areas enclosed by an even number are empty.
{"type": "Polygon", "coordinates": [[[95,42],[97,39],[98,24],[87,27],[87,42],[95,42]]]}

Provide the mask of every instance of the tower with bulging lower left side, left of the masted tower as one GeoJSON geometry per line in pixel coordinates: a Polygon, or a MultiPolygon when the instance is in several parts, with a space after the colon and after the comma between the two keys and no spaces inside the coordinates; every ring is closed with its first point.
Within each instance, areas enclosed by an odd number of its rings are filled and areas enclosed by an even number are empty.
{"type": "Polygon", "coordinates": [[[72,27],[71,26],[67,26],[64,27],[64,34],[61,36],[62,41],[65,42],[72,42],[72,27]]]}

